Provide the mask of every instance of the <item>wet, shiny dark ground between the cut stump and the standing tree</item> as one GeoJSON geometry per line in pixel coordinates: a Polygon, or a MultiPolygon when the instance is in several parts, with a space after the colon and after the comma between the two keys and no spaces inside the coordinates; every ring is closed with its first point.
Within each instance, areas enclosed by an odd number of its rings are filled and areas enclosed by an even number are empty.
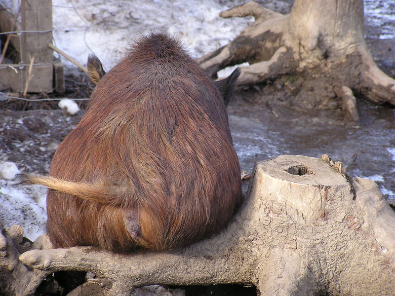
{"type": "MultiPolygon", "coordinates": [[[[272,106],[273,107],[273,106],[272,106]]],[[[375,181],[387,198],[395,199],[395,112],[388,107],[358,103],[361,122],[353,126],[340,112],[298,112],[243,103],[228,107],[233,141],[241,170],[281,154],[320,157],[343,162],[352,177],[375,181]]]]}

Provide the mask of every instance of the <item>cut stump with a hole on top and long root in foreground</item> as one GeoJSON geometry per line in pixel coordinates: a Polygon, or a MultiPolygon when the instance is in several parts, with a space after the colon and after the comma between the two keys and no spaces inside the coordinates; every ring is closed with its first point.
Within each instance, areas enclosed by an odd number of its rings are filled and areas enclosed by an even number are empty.
{"type": "Polygon", "coordinates": [[[351,179],[326,155],[258,163],[234,221],[183,250],[119,255],[74,247],[20,256],[31,272],[92,271],[86,289],[106,296],[214,283],[253,284],[261,295],[395,295],[394,258],[394,211],[374,182],[351,179]]]}

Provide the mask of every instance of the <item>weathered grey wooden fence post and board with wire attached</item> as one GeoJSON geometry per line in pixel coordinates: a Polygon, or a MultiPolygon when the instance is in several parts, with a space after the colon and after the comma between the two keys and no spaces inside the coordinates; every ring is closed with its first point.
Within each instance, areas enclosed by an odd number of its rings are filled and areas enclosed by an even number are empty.
{"type": "MultiPolygon", "coordinates": [[[[20,47],[17,48],[20,64],[0,65],[0,89],[12,88],[23,92],[52,92],[64,90],[64,78],[54,77],[54,57],[48,43],[52,42],[52,1],[51,0],[22,0],[21,24],[22,31],[20,47]],[[29,64],[34,58],[30,77],[29,64]],[[54,83],[56,81],[56,83],[54,83]]],[[[4,30],[4,29],[3,29],[4,30]]],[[[18,61],[16,62],[18,63],[18,61]]],[[[56,73],[59,71],[57,65],[56,73]]]]}

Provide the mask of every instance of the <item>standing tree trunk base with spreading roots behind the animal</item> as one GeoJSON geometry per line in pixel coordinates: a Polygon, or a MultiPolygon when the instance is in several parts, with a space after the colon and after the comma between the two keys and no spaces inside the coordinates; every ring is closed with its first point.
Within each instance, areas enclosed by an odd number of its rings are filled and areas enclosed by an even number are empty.
{"type": "Polygon", "coordinates": [[[310,107],[337,95],[347,111],[356,112],[351,90],[375,103],[395,105],[395,80],[376,66],[363,39],[362,0],[295,0],[288,15],[250,1],[220,15],[252,15],[255,22],[228,45],[198,59],[210,75],[248,62],[241,67],[239,85],[286,74],[283,84],[298,88],[299,97],[312,101],[310,107]]]}

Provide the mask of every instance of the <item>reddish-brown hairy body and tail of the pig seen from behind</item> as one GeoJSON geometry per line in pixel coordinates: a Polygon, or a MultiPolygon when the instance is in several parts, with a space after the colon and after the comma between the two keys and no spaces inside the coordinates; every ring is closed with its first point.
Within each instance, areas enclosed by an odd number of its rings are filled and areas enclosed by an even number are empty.
{"type": "Polygon", "coordinates": [[[162,34],[142,37],[103,76],[49,174],[30,182],[53,188],[47,231],[55,247],[182,247],[218,232],[241,201],[220,92],[162,34]]]}

